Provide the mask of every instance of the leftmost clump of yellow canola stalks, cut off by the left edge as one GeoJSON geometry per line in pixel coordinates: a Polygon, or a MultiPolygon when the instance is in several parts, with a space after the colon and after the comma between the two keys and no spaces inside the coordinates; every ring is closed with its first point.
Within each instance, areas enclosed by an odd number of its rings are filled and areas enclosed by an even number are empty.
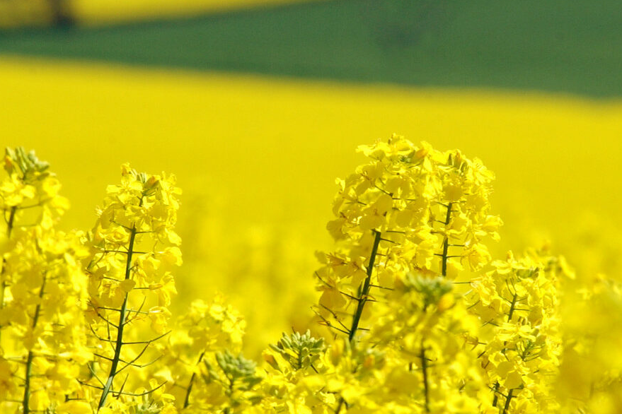
{"type": "Polygon", "coordinates": [[[86,251],[77,237],[54,230],[67,200],[47,163],[8,148],[4,169],[0,406],[24,414],[61,409],[79,394],[76,377],[91,356],[82,329],[86,251]]]}

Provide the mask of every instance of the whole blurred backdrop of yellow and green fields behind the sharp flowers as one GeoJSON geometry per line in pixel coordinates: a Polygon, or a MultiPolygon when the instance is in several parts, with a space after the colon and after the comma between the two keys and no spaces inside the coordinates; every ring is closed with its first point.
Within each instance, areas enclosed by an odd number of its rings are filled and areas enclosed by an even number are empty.
{"type": "Polygon", "coordinates": [[[392,133],[497,174],[495,254],[622,276],[619,0],[0,0],[0,131],[88,229],[119,165],[183,188],[177,307],[217,290],[250,353],[304,326],[335,177],[392,133]]]}

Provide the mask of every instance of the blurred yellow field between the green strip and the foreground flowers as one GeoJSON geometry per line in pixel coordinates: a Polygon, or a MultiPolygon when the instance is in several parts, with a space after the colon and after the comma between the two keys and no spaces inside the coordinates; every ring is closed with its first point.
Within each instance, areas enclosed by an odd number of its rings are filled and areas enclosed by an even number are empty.
{"type": "Polygon", "coordinates": [[[582,236],[609,249],[588,259],[618,260],[619,242],[599,229],[622,221],[622,102],[8,57],[0,89],[2,143],[50,161],[72,203],[66,228],[91,226],[122,162],[177,175],[180,294],[231,295],[253,350],[287,330],[294,309],[308,313],[335,177],[359,164],[357,145],[393,132],[461,148],[496,173],[500,252],[546,239],[565,252],[582,236]]]}

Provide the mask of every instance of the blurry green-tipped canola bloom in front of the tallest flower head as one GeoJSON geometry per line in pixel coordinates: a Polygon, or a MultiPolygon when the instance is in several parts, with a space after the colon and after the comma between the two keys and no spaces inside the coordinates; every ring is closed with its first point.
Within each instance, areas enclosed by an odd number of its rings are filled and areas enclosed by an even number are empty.
{"type": "MultiPolygon", "coordinates": [[[[404,391],[393,391],[398,393],[393,399],[403,399],[405,407],[419,406],[422,413],[476,414],[490,405],[483,398],[488,389],[477,354],[466,346],[479,325],[455,295],[451,281],[441,276],[410,273],[387,295],[386,303],[374,308],[365,341],[384,350],[392,370],[408,367],[410,398],[399,395],[404,391]],[[446,411],[449,407],[454,411],[446,411]]],[[[385,386],[397,387],[392,382],[405,381],[402,375],[391,371],[385,386]]]]}

